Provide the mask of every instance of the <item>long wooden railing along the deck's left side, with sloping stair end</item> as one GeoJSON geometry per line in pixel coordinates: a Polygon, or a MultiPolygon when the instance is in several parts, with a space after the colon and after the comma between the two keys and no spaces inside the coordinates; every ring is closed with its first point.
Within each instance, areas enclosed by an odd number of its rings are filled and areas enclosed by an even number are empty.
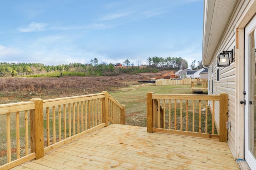
{"type": "Polygon", "coordinates": [[[102,92],[2,104],[0,116],[0,169],[10,169],[108,126],[108,121],[125,124],[125,106],[102,92]]]}

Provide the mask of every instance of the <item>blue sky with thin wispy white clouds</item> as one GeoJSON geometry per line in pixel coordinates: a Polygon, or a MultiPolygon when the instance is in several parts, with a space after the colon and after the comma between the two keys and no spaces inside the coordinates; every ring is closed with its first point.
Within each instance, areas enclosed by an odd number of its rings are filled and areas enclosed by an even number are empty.
{"type": "Polygon", "coordinates": [[[203,0],[2,0],[0,62],[202,60],[203,0]]]}

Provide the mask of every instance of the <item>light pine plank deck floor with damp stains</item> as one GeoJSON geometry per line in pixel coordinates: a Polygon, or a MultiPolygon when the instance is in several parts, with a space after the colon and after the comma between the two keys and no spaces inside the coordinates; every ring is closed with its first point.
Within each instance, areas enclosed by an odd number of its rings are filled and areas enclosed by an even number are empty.
{"type": "Polygon", "coordinates": [[[13,169],[239,170],[227,143],[112,124],[13,169]]]}

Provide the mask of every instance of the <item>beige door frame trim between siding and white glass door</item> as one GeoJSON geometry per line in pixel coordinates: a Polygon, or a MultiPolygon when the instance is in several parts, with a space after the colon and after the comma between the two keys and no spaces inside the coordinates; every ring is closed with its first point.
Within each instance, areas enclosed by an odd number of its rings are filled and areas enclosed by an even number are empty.
{"type": "MultiPolygon", "coordinates": [[[[241,100],[244,100],[244,28],[253,18],[256,13],[256,0],[248,2],[246,8],[239,16],[238,21],[235,24],[234,32],[236,32],[235,38],[235,81],[236,81],[236,100],[235,100],[235,113],[236,113],[236,135],[234,158],[244,159],[244,105],[240,104],[241,100]]],[[[228,143],[228,145],[230,145],[228,143]]]]}

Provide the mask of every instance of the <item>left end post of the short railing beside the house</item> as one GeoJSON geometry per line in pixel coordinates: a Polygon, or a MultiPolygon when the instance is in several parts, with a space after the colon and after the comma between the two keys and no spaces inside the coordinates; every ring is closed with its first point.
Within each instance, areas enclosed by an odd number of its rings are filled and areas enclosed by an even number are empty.
{"type": "Polygon", "coordinates": [[[153,132],[153,92],[147,93],[147,132],[153,132]]]}

